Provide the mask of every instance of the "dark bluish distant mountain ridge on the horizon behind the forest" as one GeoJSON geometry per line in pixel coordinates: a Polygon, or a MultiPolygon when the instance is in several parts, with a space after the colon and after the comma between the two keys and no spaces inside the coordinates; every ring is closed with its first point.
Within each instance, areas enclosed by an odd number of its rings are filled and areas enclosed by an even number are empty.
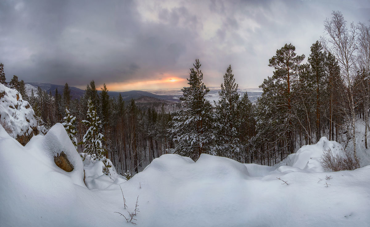
{"type": "MultiPolygon", "coordinates": [[[[55,89],[58,88],[58,93],[61,94],[63,92],[64,85],[57,85],[57,84],[50,84],[50,83],[40,83],[40,82],[26,82],[26,84],[32,85],[35,87],[36,90],[34,90],[34,93],[36,94],[37,87],[40,87],[41,90],[50,92],[52,95],[55,95],[55,89]]],[[[72,98],[79,99],[81,96],[84,95],[85,90],[76,88],[76,87],[70,87],[71,89],[71,95],[72,98]]],[[[98,93],[101,91],[98,90],[98,93]]],[[[130,100],[130,99],[137,99],[141,96],[149,96],[152,98],[158,98],[158,99],[164,99],[167,101],[176,101],[178,102],[178,99],[175,99],[173,95],[156,95],[147,91],[122,91],[122,92],[117,92],[117,91],[108,91],[108,95],[111,97],[118,97],[118,95],[121,93],[122,98],[124,101],[130,100]]]]}

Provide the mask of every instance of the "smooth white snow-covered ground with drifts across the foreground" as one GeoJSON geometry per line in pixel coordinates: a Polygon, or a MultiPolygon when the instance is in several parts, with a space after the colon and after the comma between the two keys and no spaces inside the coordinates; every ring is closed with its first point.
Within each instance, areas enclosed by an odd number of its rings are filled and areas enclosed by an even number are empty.
{"type": "Polygon", "coordinates": [[[342,152],[322,138],[273,167],[167,154],[126,181],[83,162],[61,124],[24,147],[0,126],[0,226],[135,226],[114,212],[128,217],[137,199],[145,227],[369,226],[370,166],[323,172],[327,148],[342,152]],[[61,151],[72,172],[55,165],[61,151]]]}

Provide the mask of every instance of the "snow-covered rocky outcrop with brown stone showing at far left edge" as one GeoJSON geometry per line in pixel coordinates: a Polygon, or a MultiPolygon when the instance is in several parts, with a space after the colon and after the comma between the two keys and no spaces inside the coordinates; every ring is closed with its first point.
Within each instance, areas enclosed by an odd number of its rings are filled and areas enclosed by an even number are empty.
{"type": "Polygon", "coordinates": [[[17,90],[0,84],[0,121],[10,126],[10,135],[23,145],[38,134],[34,114],[31,105],[17,90]]]}

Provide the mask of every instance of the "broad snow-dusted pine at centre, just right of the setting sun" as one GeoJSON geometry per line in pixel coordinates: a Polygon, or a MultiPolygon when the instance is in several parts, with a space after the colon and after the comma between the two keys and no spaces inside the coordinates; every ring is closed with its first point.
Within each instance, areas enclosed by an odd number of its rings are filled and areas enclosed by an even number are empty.
{"type": "Polygon", "coordinates": [[[189,87],[181,89],[182,110],[176,113],[169,129],[176,143],[175,148],[169,151],[196,160],[201,153],[216,155],[213,131],[215,116],[211,104],[205,99],[209,89],[202,82],[199,60],[196,59],[193,65],[188,78],[189,87]]]}

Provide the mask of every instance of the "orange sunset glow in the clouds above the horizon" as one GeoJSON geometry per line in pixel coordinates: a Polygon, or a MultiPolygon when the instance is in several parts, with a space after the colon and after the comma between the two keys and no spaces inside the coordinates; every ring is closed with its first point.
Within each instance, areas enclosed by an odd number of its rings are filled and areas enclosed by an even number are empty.
{"type": "MultiPolygon", "coordinates": [[[[143,89],[182,88],[186,85],[186,79],[179,77],[168,77],[148,81],[107,83],[110,91],[131,91],[143,89]]],[[[101,85],[102,87],[102,85],[101,85]]],[[[98,86],[97,86],[98,88],[98,86]]],[[[100,87],[99,87],[100,88],[100,87]]]]}

